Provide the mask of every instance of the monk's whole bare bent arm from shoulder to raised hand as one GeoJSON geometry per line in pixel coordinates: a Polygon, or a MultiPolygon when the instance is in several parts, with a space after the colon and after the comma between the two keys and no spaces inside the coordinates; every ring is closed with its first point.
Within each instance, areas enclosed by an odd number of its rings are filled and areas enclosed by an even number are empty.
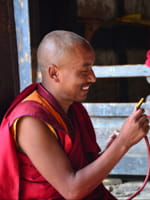
{"type": "Polygon", "coordinates": [[[94,162],[77,172],[73,171],[67,156],[55,136],[38,119],[24,117],[18,123],[20,148],[35,167],[65,199],[82,199],[108,175],[129,148],[139,142],[149,126],[142,110],[135,110],[125,121],[120,135],[94,162]],[[34,127],[34,128],[33,128],[34,127]],[[64,184],[65,183],[65,184],[64,184]]]}

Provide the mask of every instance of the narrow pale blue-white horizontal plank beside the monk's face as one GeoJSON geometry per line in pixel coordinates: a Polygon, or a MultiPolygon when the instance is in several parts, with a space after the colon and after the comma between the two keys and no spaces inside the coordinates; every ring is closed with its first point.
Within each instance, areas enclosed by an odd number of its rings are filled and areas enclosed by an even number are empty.
{"type": "Polygon", "coordinates": [[[97,78],[121,78],[121,77],[148,77],[150,68],[146,65],[114,65],[93,66],[97,78]]]}

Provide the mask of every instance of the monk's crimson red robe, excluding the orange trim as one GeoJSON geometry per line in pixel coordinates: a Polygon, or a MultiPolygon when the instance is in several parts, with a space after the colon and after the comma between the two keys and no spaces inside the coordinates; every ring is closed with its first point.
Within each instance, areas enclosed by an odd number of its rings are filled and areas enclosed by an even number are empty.
{"type": "MultiPolygon", "coordinates": [[[[32,84],[25,89],[13,102],[5,114],[0,127],[0,199],[64,199],[32,165],[30,159],[17,151],[10,127],[21,116],[34,116],[49,123],[56,130],[59,143],[66,152],[74,170],[79,170],[98,157],[100,148],[90,118],[81,103],[73,103],[69,109],[69,118],[59,104],[40,84],[32,84]],[[25,97],[34,90],[44,97],[50,105],[60,114],[68,131],[58,123],[55,116],[38,102],[24,101],[25,97]],[[71,119],[71,123],[70,123],[71,119]],[[72,125],[73,124],[73,125],[72,125]]],[[[100,184],[84,200],[115,200],[100,184]]]]}

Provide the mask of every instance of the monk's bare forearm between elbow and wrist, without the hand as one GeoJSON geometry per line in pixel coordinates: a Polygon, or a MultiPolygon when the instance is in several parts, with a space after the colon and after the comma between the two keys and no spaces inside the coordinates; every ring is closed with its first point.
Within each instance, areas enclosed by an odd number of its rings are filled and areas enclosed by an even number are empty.
{"type": "Polygon", "coordinates": [[[74,177],[74,188],[85,196],[96,188],[128,151],[123,138],[117,137],[113,144],[94,162],[79,170],[74,177]]]}

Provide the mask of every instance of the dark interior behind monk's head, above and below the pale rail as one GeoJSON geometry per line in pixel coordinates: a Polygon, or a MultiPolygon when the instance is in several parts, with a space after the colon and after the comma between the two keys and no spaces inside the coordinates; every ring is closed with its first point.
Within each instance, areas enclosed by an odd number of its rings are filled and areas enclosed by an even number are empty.
{"type": "MultiPolygon", "coordinates": [[[[35,0],[29,2],[34,80],[37,45],[45,33],[56,29],[86,37],[96,52],[96,65],[144,63],[150,47],[149,0],[63,0],[61,10],[57,0],[36,0],[36,6],[35,0]]],[[[97,79],[87,101],[134,102],[148,92],[145,78],[97,79]]]]}

